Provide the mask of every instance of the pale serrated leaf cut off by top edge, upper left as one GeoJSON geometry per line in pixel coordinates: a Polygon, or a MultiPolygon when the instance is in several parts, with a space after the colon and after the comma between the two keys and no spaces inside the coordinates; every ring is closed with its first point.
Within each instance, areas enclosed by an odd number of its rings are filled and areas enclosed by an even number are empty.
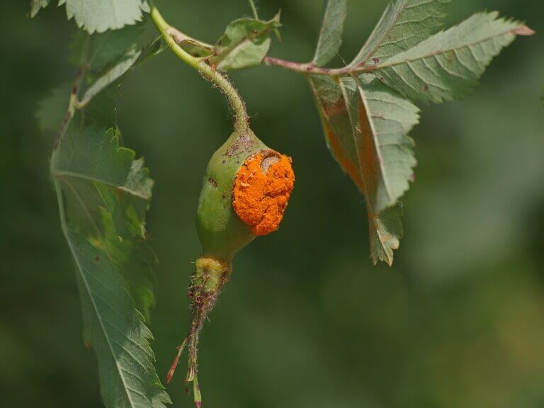
{"type": "Polygon", "coordinates": [[[62,4],[68,19],[75,18],[77,26],[90,34],[135,24],[142,21],[143,11],[149,11],[147,0],[60,0],[62,4]]]}

